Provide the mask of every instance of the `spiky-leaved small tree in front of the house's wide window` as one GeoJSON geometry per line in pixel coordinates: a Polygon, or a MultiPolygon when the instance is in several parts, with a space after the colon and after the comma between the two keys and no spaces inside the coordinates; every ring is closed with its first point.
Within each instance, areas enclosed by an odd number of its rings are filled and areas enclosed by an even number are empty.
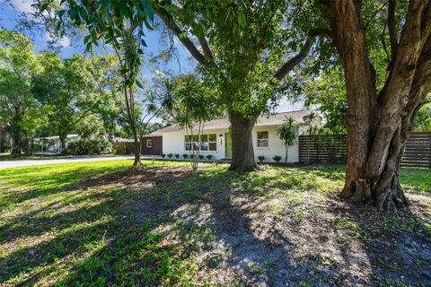
{"type": "Polygon", "coordinates": [[[215,116],[211,93],[194,75],[178,78],[175,83],[174,121],[186,131],[186,147],[192,170],[198,170],[202,133],[205,123],[215,116]]]}

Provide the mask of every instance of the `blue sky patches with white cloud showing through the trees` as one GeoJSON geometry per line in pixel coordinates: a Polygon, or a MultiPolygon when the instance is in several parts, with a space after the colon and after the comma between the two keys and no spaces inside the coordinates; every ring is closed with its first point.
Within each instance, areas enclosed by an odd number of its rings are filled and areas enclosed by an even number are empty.
{"type": "MultiPolygon", "coordinates": [[[[31,4],[33,0],[0,0],[0,27],[7,30],[16,30],[20,13],[31,13],[31,4]]],[[[33,40],[35,52],[40,53],[48,49],[48,42],[51,40],[50,35],[45,30],[34,30],[31,34],[26,32],[27,36],[33,40]]],[[[163,43],[160,41],[162,38],[160,30],[148,31],[145,35],[145,54],[150,57],[157,55],[163,49],[163,43]]],[[[67,58],[74,54],[84,55],[84,41],[83,39],[70,39],[64,36],[57,42],[59,46],[59,53],[61,57],[67,58]]],[[[174,46],[178,51],[178,59],[173,59],[168,64],[163,65],[149,65],[148,61],[142,67],[142,73],[145,80],[151,82],[154,72],[171,71],[174,74],[187,74],[193,71],[197,62],[189,57],[189,52],[182,46],[178,39],[174,39],[174,46]],[[180,64],[179,64],[180,62],[180,64]]],[[[100,52],[100,54],[110,53],[110,48],[100,52]]],[[[277,112],[285,112],[291,110],[303,109],[303,103],[292,103],[286,98],[280,100],[277,107],[277,112]]]]}

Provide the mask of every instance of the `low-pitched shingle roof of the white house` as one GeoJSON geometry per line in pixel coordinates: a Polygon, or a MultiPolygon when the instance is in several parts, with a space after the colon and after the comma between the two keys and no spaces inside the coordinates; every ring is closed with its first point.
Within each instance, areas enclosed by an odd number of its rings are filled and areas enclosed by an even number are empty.
{"type": "MultiPolygon", "coordinates": [[[[264,115],[264,116],[258,117],[258,120],[255,126],[278,126],[286,119],[286,117],[294,117],[296,124],[304,125],[305,122],[303,120],[303,117],[306,117],[311,113],[312,113],[311,109],[302,109],[302,110],[288,111],[284,113],[277,113],[273,115],[264,115]]],[[[230,126],[231,126],[231,123],[229,122],[229,119],[227,117],[214,119],[205,123],[206,130],[224,129],[224,128],[229,128],[230,126]]],[[[166,126],[162,129],[159,129],[155,133],[156,134],[172,133],[172,132],[178,132],[180,130],[182,130],[180,126],[172,125],[172,126],[166,126]]]]}

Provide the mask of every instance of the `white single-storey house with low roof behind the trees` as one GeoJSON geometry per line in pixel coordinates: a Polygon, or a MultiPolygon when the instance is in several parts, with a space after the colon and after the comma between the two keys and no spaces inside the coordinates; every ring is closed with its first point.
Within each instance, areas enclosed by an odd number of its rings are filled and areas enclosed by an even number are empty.
{"type": "MultiPolygon", "coordinates": [[[[297,127],[297,135],[303,135],[309,124],[307,117],[310,116],[312,110],[297,110],[284,113],[278,113],[270,116],[261,116],[258,118],[256,125],[252,130],[252,140],[254,147],[254,155],[256,160],[260,155],[265,156],[266,161],[272,161],[275,155],[280,155],[284,158],[286,149],[283,142],[277,135],[277,126],[279,126],[286,117],[294,117],[297,127]]],[[[320,126],[320,117],[311,123],[314,126],[320,126]]],[[[216,160],[232,158],[232,138],[230,133],[230,122],[228,118],[215,119],[205,123],[204,132],[201,136],[200,154],[212,154],[216,160]]],[[[163,153],[169,154],[184,154],[189,153],[192,142],[198,142],[197,135],[194,139],[178,125],[164,127],[145,138],[143,146],[151,145],[157,150],[162,150],[163,153]],[[157,138],[157,142],[154,140],[157,138]]],[[[145,150],[143,149],[143,154],[145,150]]],[[[299,161],[298,143],[289,147],[288,154],[289,162],[299,161]]]]}

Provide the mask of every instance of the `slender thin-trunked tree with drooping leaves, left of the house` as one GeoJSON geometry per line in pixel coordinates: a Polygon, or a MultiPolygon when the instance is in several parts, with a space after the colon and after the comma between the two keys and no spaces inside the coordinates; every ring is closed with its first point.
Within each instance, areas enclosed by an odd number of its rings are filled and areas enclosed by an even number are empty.
{"type": "Polygon", "coordinates": [[[135,142],[134,165],[141,165],[140,144],[136,131],[135,92],[136,85],[143,88],[138,81],[140,66],[143,63],[142,48],[146,46],[143,36],[145,27],[151,29],[150,21],[153,21],[153,10],[146,1],[110,1],[87,2],[62,0],[60,8],[52,1],[44,1],[37,4],[40,15],[46,19],[47,25],[55,22],[57,31],[63,35],[66,26],[70,23],[76,27],[87,29],[84,37],[86,50],[91,51],[93,46],[99,46],[99,41],[110,44],[119,58],[119,74],[122,81],[119,83],[119,91],[124,95],[128,114],[129,126],[135,142]],[[55,14],[57,19],[52,21],[44,14],[55,14]]]}

